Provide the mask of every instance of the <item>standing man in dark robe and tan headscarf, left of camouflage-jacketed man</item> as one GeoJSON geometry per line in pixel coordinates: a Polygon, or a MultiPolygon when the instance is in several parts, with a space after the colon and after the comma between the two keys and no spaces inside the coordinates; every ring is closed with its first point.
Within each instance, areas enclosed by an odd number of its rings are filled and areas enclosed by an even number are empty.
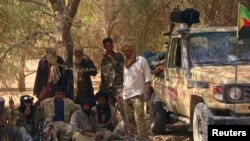
{"type": "Polygon", "coordinates": [[[88,98],[91,100],[90,106],[95,106],[94,89],[90,76],[96,76],[97,70],[93,61],[83,53],[82,48],[74,50],[73,78],[74,93],[76,103],[82,103],[82,100],[88,98]]]}

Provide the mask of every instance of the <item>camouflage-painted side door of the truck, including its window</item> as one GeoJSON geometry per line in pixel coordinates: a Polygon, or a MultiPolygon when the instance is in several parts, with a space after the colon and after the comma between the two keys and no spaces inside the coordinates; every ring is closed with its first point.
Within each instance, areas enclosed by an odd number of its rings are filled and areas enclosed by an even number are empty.
{"type": "Polygon", "coordinates": [[[164,95],[170,111],[185,115],[184,70],[182,69],[181,50],[181,38],[172,37],[168,48],[164,95]]]}

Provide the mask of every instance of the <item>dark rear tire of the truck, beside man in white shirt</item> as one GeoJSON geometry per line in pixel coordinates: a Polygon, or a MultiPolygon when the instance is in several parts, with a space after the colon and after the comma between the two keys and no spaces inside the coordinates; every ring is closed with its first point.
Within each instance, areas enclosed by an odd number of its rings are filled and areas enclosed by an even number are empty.
{"type": "Polygon", "coordinates": [[[154,134],[162,134],[166,132],[166,124],[170,121],[170,114],[163,108],[161,101],[156,101],[150,104],[150,121],[151,131],[154,134]]]}

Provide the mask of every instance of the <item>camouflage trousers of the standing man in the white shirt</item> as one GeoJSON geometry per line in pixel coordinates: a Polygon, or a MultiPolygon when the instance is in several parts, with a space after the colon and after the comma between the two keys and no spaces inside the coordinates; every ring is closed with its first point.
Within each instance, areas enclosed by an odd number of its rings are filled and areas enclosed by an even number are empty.
{"type": "Polygon", "coordinates": [[[144,101],[142,95],[124,100],[128,128],[133,134],[147,136],[144,119],[144,101]]]}

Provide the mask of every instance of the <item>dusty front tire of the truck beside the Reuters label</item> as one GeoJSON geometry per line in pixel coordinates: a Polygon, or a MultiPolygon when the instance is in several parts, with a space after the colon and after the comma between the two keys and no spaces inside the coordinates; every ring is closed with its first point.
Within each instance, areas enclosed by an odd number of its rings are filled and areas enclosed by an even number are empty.
{"type": "Polygon", "coordinates": [[[193,140],[208,140],[208,117],[210,110],[204,103],[198,103],[193,114],[193,140]]]}

